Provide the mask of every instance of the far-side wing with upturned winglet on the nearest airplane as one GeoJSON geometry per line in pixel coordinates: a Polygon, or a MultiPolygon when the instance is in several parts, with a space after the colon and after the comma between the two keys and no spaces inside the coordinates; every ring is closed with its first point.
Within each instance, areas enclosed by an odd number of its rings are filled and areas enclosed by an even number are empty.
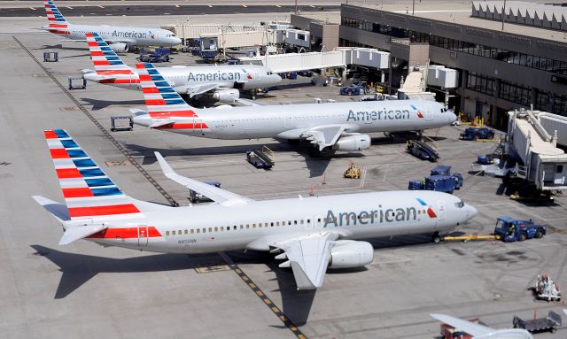
{"type": "Polygon", "coordinates": [[[188,189],[194,190],[203,196],[207,196],[214,202],[218,204],[223,204],[225,206],[232,206],[237,204],[248,204],[253,200],[245,197],[239,196],[236,193],[229,192],[226,189],[219,189],[218,187],[211,186],[205,182],[196,181],[190,178],[181,176],[171,168],[159,152],[154,152],[156,158],[158,158],[159,166],[167,178],[185,186],[188,189]]]}

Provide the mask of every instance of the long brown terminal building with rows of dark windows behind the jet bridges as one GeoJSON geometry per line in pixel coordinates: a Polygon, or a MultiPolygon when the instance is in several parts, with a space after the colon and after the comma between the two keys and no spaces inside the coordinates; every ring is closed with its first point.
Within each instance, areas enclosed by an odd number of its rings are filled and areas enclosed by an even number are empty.
{"type": "MultiPolygon", "coordinates": [[[[505,129],[521,107],[567,116],[567,10],[508,1],[472,4],[342,4],[339,46],[391,54],[388,85],[415,66],[445,65],[459,87],[430,88],[458,112],[505,129]]],[[[308,19],[291,16],[306,27],[308,19]]]]}

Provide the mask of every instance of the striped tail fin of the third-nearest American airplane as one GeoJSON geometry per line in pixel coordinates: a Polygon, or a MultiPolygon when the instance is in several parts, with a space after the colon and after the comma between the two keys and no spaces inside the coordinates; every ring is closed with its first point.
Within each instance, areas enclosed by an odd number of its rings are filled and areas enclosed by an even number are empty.
{"type": "Polygon", "coordinates": [[[90,57],[97,73],[105,75],[134,74],[132,69],[124,64],[100,35],[92,32],[85,34],[85,36],[89,44],[90,57]]]}

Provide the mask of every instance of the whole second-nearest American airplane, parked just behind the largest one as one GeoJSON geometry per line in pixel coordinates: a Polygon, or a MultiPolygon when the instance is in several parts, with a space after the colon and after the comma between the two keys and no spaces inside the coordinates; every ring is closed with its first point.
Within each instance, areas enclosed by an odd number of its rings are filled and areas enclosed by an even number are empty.
{"type": "Polygon", "coordinates": [[[147,112],[130,110],[137,125],[214,139],[308,140],[323,150],[366,150],[372,132],[423,131],[450,125],[456,116],[424,100],[282,104],[196,109],[175,93],[151,64],[136,64],[147,112]]]}

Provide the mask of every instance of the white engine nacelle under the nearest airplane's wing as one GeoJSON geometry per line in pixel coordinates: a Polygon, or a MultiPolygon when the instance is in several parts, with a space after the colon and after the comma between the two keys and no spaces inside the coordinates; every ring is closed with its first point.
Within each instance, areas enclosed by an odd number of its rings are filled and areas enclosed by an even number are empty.
{"type": "Polygon", "coordinates": [[[374,259],[374,248],[370,243],[339,240],[330,250],[330,268],[353,268],[369,265],[374,259]]]}

